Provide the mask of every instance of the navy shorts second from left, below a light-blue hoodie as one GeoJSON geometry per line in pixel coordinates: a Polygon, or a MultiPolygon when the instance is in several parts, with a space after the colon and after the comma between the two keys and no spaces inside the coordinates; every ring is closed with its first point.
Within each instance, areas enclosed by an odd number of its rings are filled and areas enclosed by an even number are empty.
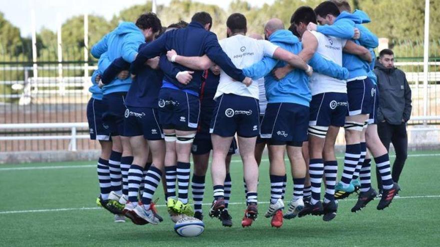
{"type": "Polygon", "coordinates": [[[124,115],[125,110],[125,95],[124,92],[110,93],[104,95],[102,103],[104,104],[104,111],[102,113],[102,121],[108,126],[111,136],[124,135],[124,115]]]}

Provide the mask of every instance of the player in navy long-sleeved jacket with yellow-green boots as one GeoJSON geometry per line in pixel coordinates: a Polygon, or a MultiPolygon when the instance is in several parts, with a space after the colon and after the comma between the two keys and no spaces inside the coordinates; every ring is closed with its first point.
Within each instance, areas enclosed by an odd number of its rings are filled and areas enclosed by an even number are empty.
{"type": "MultiPolygon", "coordinates": [[[[216,35],[209,31],[211,25],[212,18],[208,13],[195,13],[186,28],[166,32],[142,47],[131,65],[131,72],[137,74],[147,59],[174,49],[185,56],[206,54],[235,80],[250,82],[250,78],[245,78],[223,52],[216,35]]],[[[189,69],[182,65],[176,67],[183,72],[165,74],[158,97],[159,123],[166,142],[167,208],[177,214],[192,216],[193,212],[188,204],[189,155],[198,123],[198,92],[203,71],[188,72],[189,69]],[[190,73],[193,74],[189,83],[181,83],[176,79],[179,75],[190,73]],[[175,195],[176,177],[178,200],[175,195]]]]}

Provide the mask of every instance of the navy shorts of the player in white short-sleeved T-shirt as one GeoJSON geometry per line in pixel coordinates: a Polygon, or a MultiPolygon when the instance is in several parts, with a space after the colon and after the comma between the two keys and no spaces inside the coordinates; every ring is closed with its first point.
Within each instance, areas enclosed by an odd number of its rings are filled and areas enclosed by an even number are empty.
{"type": "Polygon", "coordinates": [[[222,137],[259,134],[259,105],[252,97],[222,94],[217,98],[209,132],[222,137]]]}

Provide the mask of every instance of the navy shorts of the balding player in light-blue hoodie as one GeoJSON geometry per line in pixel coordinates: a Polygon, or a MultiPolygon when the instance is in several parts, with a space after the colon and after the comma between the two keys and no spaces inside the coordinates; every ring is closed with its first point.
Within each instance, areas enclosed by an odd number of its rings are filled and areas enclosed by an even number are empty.
{"type": "Polygon", "coordinates": [[[310,109],[294,103],[268,103],[261,121],[261,138],[270,138],[269,145],[302,146],[307,140],[310,109]],[[293,145],[295,144],[295,145],[293,145]]]}

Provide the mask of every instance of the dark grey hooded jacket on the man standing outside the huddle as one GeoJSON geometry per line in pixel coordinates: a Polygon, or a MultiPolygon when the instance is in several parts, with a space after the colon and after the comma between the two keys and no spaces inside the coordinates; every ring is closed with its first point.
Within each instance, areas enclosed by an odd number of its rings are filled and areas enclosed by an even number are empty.
{"type": "Polygon", "coordinates": [[[379,105],[377,121],[385,120],[389,124],[399,125],[411,116],[411,89],[406,81],[405,73],[396,67],[385,68],[376,61],[374,73],[379,89],[379,105]]]}

